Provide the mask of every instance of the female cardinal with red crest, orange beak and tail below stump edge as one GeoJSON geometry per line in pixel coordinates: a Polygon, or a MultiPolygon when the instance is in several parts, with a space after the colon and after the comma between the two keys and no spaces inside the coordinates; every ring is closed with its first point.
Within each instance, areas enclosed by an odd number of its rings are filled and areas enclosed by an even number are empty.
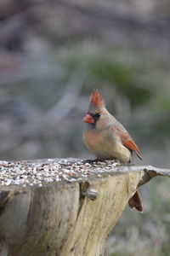
{"type": "MultiPolygon", "coordinates": [[[[139,148],[132,137],[105,108],[105,103],[98,90],[94,90],[90,96],[88,113],[83,118],[86,128],[83,131],[83,140],[87,148],[92,151],[99,160],[120,160],[123,163],[132,161],[133,151],[142,160],[139,148]]],[[[143,212],[139,191],[137,190],[128,205],[143,212]]]]}

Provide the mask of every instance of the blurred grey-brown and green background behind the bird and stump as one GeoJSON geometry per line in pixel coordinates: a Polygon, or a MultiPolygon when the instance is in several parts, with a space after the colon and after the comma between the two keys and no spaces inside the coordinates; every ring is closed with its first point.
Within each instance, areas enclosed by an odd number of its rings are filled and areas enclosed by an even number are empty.
{"type": "MultiPolygon", "coordinates": [[[[141,149],[134,163],[170,168],[169,60],[168,0],[0,0],[0,159],[94,157],[82,117],[98,88],[141,149]]],[[[169,255],[170,180],[141,194],[106,256],[169,255]]]]}

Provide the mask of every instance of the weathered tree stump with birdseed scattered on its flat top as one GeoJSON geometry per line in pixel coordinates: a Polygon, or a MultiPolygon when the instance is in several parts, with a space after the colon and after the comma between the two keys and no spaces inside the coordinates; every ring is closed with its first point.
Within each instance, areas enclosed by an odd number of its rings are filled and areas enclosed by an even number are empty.
{"type": "Polygon", "coordinates": [[[0,161],[0,255],[104,254],[135,190],[170,170],[114,160],[0,161]]]}

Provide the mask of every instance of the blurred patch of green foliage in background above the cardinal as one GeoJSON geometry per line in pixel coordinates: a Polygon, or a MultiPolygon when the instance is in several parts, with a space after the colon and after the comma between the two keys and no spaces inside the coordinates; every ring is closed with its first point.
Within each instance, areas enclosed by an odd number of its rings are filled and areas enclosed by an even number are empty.
{"type": "Polygon", "coordinates": [[[86,71],[92,84],[95,80],[96,84],[115,86],[133,107],[144,105],[155,93],[150,81],[141,81],[144,72],[148,72],[143,61],[120,61],[116,53],[104,49],[93,55],[77,50],[77,54],[68,56],[65,63],[69,73],[86,71]]]}

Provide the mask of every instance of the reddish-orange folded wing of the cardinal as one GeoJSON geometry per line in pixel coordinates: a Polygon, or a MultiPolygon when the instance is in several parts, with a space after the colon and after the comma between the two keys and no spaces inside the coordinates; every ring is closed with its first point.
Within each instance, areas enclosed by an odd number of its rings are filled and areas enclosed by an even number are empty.
{"type": "Polygon", "coordinates": [[[139,159],[142,160],[139,148],[136,145],[136,143],[134,143],[132,137],[130,137],[128,132],[125,129],[119,129],[119,127],[117,126],[115,126],[113,129],[116,132],[116,134],[121,138],[122,144],[128,149],[133,150],[138,155],[139,159]]]}

